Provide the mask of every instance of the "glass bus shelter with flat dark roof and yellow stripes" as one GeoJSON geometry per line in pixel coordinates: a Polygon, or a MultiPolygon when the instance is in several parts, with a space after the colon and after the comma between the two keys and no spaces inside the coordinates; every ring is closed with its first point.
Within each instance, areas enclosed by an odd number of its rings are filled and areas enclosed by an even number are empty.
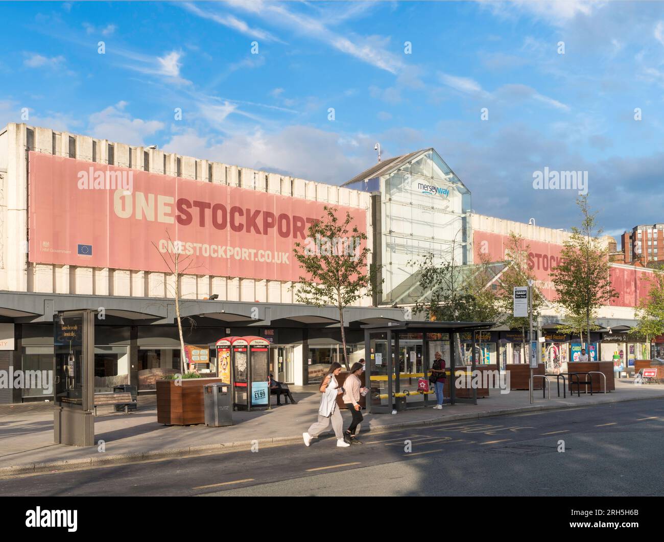
{"type": "Polygon", "coordinates": [[[445,403],[477,405],[477,389],[471,380],[479,357],[478,331],[490,329],[493,322],[401,321],[363,325],[367,381],[371,389],[369,412],[390,413],[394,408],[425,408],[436,405],[434,389],[418,389],[420,379],[430,375],[434,355],[446,361],[445,403]],[[471,355],[463,359],[461,333],[471,335],[471,355]],[[469,363],[466,365],[465,363],[469,363]],[[457,387],[457,380],[465,379],[457,387]]]}

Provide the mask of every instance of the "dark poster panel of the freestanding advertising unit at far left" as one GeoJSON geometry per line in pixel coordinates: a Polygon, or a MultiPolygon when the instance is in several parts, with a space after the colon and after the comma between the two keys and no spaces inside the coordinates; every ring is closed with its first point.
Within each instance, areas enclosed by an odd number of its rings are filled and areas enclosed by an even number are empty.
{"type": "Polygon", "coordinates": [[[83,316],[54,317],[53,341],[55,353],[58,406],[83,408],[83,316]]]}

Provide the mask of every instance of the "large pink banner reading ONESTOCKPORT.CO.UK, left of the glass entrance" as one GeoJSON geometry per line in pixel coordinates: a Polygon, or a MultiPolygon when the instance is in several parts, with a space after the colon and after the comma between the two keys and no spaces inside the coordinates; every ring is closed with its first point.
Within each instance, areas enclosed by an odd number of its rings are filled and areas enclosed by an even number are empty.
{"type": "MultiPolygon", "coordinates": [[[[29,260],[42,264],[169,272],[179,252],[187,274],[297,280],[293,245],[326,205],[33,151],[29,171],[29,260]]],[[[364,209],[333,207],[367,232],[364,209]]]]}

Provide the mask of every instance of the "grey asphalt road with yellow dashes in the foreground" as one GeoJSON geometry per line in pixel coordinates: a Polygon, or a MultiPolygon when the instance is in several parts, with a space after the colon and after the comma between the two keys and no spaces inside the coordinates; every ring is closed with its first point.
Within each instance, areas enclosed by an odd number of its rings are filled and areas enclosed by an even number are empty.
{"type": "Polygon", "coordinates": [[[0,494],[662,496],[663,429],[664,399],[628,401],[366,433],[351,448],[330,435],[309,448],[24,475],[0,480],[0,494]]]}

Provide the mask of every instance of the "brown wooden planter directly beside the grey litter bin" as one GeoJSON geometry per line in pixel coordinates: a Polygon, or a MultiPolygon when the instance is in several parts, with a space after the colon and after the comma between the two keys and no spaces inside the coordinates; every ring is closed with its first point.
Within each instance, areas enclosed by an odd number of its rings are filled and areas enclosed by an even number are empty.
{"type": "Polygon", "coordinates": [[[203,386],[222,379],[157,380],[157,422],[166,425],[205,423],[203,386]]]}

